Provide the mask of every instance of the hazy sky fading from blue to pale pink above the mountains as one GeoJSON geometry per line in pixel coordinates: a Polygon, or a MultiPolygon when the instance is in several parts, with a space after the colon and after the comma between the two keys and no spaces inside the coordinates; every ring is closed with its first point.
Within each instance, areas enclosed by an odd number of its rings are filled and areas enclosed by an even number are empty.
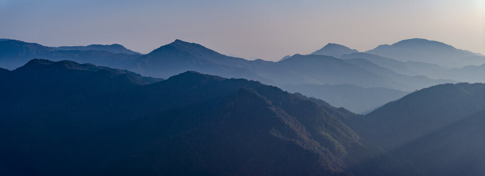
{"type": "Polygon", "coordinates": [[[366,51],[425,38],[484,53],[484,0],[0,0],[0,38],[48,46],[180,39],[279,60],[327,43],[366,51]]]}

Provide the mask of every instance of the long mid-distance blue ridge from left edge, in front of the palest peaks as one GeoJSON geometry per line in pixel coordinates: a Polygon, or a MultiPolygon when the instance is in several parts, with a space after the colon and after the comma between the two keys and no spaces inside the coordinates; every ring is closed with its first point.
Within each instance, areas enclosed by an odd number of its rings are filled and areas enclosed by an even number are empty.
{"type": "MultiPolygon", "coordinates": [[[[22,66],[35,58],[53,61],[72,60],[78,63],[93,63],[98,66],[127,69],[144,76],[157,78],[169,78],[193,70],[226,78],[245,78],[278,87],[286,84],[350,84],[362,88],[380,87],[414,91],[435,84],[452,82],[427,79],[422,76],[399,75],[369,63],[350,63],[350,61],[323,55],[294,55],[280,62],[260,59],[248,61],[225,56],[200,44],[180,40],[161,46],[147,55],[130,55],[102,50],[54,50],[40,44],[5,40],[0,41],[0,55],[0,67],[9,69],[22,66]]],[[[306,92],[303,88],[301,91],[296,89],[292,89],[292,91],[306,92]]],[[[315,94],[320,94],[320,92],[315,92],[315,94]]],[[[353,92],[341,92],[335,96],[346,96],[346,94],[353,94],[353,92]]],[[[394,99],[395,97],[388,98],[394,99]]],[[[349,104],[338,105],[357,110],[352,104],[353,101],[368,100],[351,99],[347,101],[349,104]]],[[[332,101],[332,103],[334,102],[336,101],[332,101]]]]}

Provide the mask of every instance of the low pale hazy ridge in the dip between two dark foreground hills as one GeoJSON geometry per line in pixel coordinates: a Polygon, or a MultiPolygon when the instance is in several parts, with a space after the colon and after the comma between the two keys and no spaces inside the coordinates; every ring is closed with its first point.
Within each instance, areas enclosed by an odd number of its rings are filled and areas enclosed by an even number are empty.
{"type": "Polygon", "coordinates": [[[402,98],[409,92],[390,88],[362,88],[354,85],[281,85],[289,92],[325,100],[335,107],[345,107],[356,113],[368,113],[384,104],[402,98]]]}

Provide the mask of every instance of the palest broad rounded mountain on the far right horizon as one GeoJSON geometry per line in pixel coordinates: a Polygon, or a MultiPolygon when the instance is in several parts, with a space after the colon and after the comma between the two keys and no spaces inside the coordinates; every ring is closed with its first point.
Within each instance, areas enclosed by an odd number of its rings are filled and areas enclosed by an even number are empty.
{"type": "Polygon", "coordinates": [[[366,51],[399,61],[415,61],[447,67],[485,64],[484,56],[451,45],[426,39],[408,39],[395,44],[383,44],[366,51]]]}

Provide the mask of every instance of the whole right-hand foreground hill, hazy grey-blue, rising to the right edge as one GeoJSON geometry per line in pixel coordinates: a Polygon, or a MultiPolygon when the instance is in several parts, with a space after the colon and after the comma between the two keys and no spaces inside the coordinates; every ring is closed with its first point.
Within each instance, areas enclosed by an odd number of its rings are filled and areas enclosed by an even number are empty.
{"type": "Polygon", "coordinates": [[[483,176],[484,110],[485,84],[445,84],[347,120],[365,141],[407,158],[426,175],[483,176]]]}

